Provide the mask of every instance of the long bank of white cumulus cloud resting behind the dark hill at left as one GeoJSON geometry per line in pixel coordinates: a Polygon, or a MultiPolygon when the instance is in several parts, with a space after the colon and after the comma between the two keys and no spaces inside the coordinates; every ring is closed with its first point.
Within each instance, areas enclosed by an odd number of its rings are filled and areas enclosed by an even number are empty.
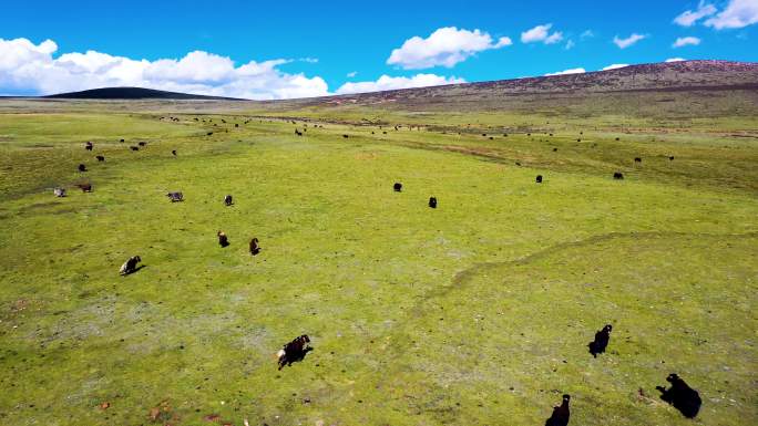
{"type": "Polygon", "coordinates": [[[51,40],[0,39],[0,93],[45,95],[107,86],[140,86],[214,96],[255,100],[327,95],[319,76],[289,74],[277,66],[289,60],[250,61],[235,65],[229,58],[203,51],[182,59],[133,60],[86,51],[53,53],[51,40]]]}

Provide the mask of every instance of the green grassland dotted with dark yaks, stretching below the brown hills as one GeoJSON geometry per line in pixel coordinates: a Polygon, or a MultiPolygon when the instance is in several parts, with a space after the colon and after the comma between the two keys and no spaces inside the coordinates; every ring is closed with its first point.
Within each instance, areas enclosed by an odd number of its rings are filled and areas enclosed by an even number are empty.
{"type": "Polygon", "coordinates": [[[0,424],[541,425],[563,393],[572,425],[756,424],[750,96],[687,117],[595,110],[610,96],[534,114],[3,101],[0,424]],[[315,350],[277,371],[303,333],[315,350]],[[672,372],[696,420],[658,398],[672,372]]]}

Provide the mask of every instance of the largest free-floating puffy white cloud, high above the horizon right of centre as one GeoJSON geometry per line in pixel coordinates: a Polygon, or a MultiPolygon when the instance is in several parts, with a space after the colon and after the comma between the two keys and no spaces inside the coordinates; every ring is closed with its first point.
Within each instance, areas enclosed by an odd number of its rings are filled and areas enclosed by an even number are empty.
{"type": "Polygon", "coordinates": [[[501,37],[494,42],[486,32],[445,27],[432,32],[426,39],[417,35],[406,40],[400,49],[392,50],[387,63],[400,65],[406,70],[432,66],[452,67],[477,52],[511,44],[513,42],[508,37],[501,37]]]}

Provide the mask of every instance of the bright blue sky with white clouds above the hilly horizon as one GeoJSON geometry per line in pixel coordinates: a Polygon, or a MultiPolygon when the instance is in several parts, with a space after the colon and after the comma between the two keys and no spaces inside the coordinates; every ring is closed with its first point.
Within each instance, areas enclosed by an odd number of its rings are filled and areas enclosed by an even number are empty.
{"type": "Polygon", "coordinates": [[[276,98],[756,62],[756,21],[758,0],[8,2],[0,94],[134,84],[276,98]]]}

